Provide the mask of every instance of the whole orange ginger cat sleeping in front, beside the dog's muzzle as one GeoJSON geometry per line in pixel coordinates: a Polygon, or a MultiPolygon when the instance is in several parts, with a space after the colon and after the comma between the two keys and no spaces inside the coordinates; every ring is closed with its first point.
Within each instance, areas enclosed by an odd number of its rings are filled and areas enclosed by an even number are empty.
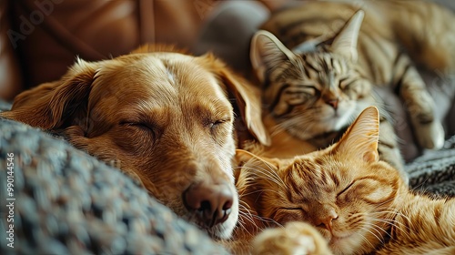
{"type": "Polygon", "coordinates": [[[378,140],[379,111],[368,107],[323,150],[293,159],[238,150],[244,210],[234,253],[455,254],[455,198],[410,191],[379,160],[378,140]]]}

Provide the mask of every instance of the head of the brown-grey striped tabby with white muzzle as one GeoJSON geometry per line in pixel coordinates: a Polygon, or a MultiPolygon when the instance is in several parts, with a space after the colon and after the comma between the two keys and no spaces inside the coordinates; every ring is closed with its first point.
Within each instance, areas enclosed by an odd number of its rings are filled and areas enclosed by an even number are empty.
{"type": "Polygon", "coordinates": [[[252,66],[277,128],[314,138],[346,128],[368,106],[361,99],[371,85],[356,68],[362,19],[359,11],[335,36],[320,36],[292,50],[268,31],[253,37],[252,66]]]}

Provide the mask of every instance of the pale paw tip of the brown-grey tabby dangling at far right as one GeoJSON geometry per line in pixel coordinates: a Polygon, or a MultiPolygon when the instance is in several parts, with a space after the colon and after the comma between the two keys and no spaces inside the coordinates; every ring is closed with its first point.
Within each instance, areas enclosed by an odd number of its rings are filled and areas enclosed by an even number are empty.
{"type": "Polygon", "coordinates": [[[444,128],[437,121],[426,125],[420,124],[416,128],[416,137],[422,148],[440,149],[444,146],[444,128]]]}

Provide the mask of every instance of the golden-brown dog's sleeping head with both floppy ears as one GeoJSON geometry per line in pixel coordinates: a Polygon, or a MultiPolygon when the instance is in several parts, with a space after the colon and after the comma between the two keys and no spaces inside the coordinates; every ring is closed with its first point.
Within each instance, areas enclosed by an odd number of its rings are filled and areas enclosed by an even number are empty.
{"type": "Polygon", "coordinates": [[[76,148],[114,163],[223,239],[238,219],[234,108],[246,129],[268,142],[251,89],[210,55],[138,52],[78,60],[61,80],[25,91],[0,116],[62,130],[76,148]]]}

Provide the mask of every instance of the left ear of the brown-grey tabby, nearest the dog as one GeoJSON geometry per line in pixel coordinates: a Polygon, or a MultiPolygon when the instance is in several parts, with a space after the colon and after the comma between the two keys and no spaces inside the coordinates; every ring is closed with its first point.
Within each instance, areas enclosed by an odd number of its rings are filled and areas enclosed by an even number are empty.
{"type": "Polygon", "coordinates": [[[251,39],[249,57],[259,81],[263,84],[270,68],[286,60],[293,61],[295,55],[272,33],[259,30],[251,39]]]}

